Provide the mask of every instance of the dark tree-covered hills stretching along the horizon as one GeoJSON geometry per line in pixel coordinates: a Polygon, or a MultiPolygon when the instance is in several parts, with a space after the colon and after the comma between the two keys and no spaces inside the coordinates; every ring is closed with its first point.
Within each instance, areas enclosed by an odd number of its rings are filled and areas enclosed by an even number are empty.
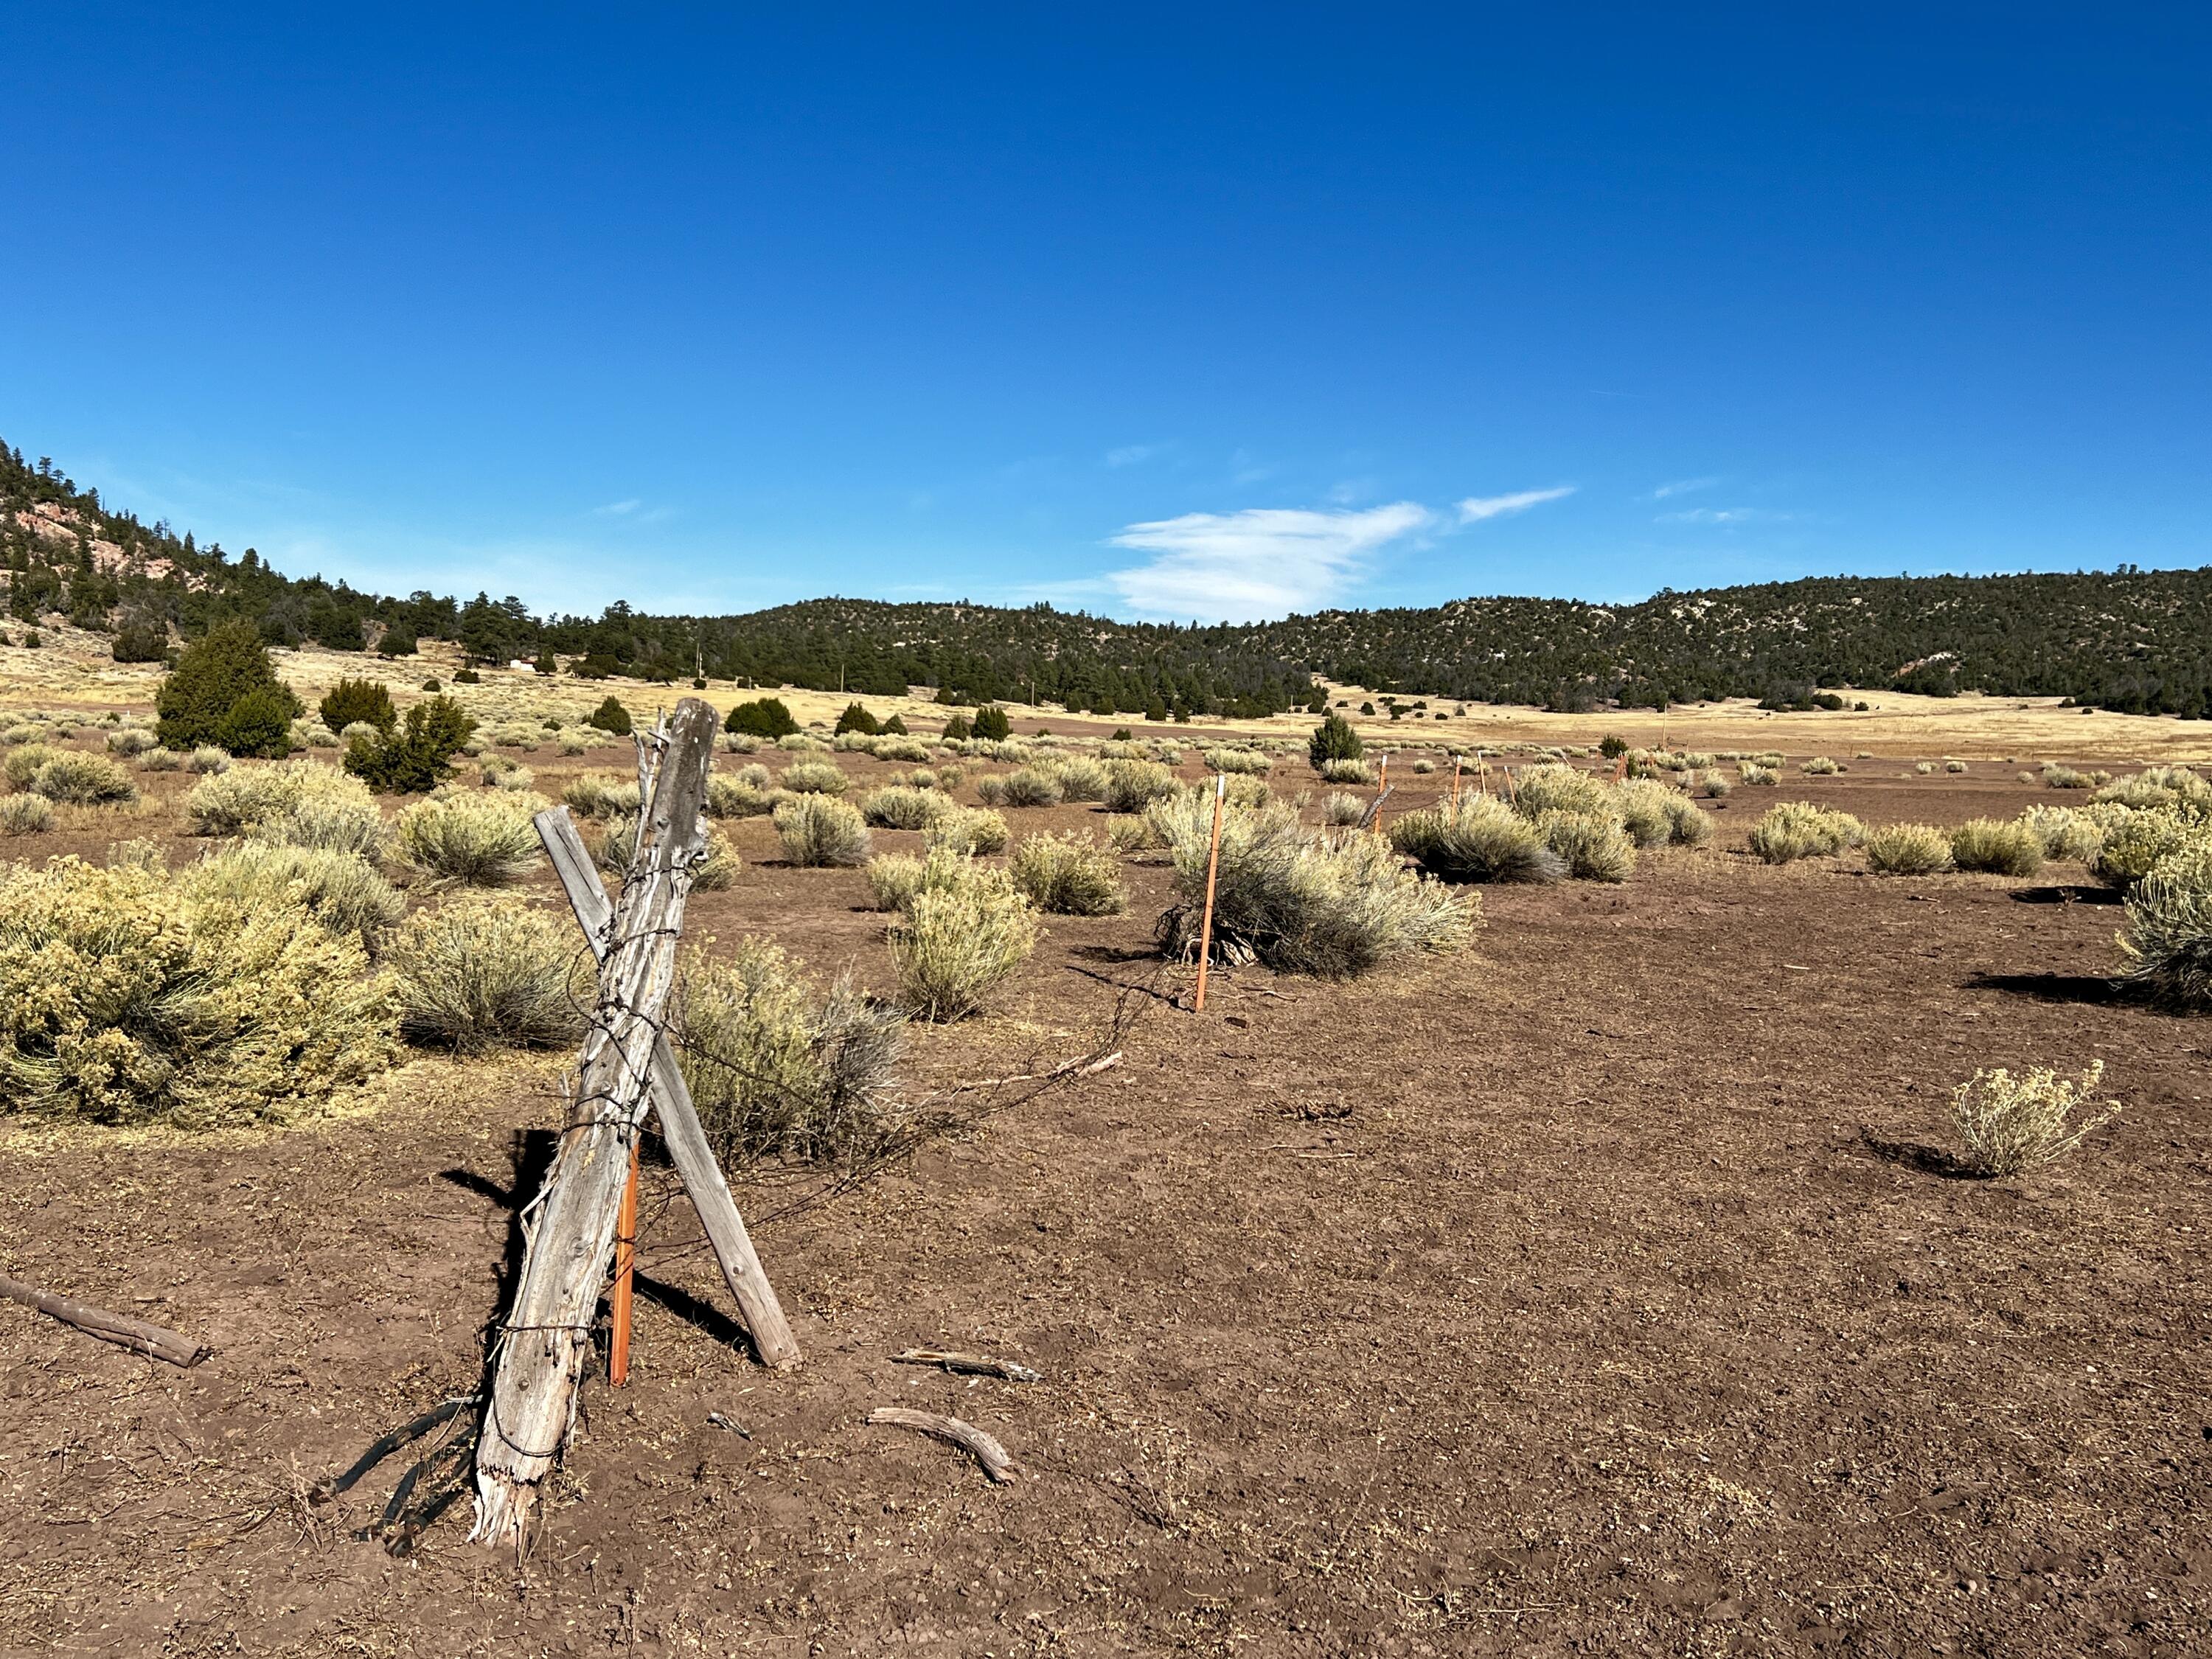
{"type": "Polygon", "coordinates": [[[938,686],[960,701],[1053,701],[1102,714],[1265,714],[1314,677],[1405,699],[1663,706],[1803,703],[1898,686],[2070,697],[2212,719],[2212,566],[1984,577],[1809,577],[1659,593],[1641,604],[1453,599],[1323,611],[1252,626],[1126,624],[1051,606],[810,599],[730,617],[608,606],[540,617],[520,597],[361,593],[290,577],[190,531],[142,524],[51,462],[0,445],[0,564],[18,624],[62,613],[117,655],[230,617],[272,644],[407,655],[451,639],[491,659],[555,653],[575,672],[794,684],[858,695],[938,686]]]}

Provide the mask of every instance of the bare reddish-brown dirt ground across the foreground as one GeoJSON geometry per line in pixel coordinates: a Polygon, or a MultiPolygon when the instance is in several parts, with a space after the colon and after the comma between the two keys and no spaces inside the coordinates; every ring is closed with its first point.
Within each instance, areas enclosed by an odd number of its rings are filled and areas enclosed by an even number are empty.
{"type": "MultiPolygon", "coordinates": [[[[524,759],[549,792],[582,768],[524,759]]],[[[1438,779],[1409,783],[1394,805],[1438,779]]],[[[1993,765],[1792,772],[1626,887],[1486,889],[1462,960],[1239,971],[1203,1015],[1161,1000],[1188,984],[1135,867],[1126,916],[1053,918],[993,1015],[909,1060],[916,1093],[1024,1071],[1130,995],[1115,1071],[847,1192],[739,1181],[794,1376],[732,1343],[648,1179],[633,1383],[591,1385],[520,1562],[465,1544],[465,1506],[405,1559],[356,1540],[400,1460],[305,1491],[476,1387],[562,1057],[416,1062],[290,1133],[0,1130],[0,1270],[217,1347],[175,1371],[0,1307],[0,1650],[2208,1652],[2212,1024],[2108,989],[2119,911],[2075,867],[1734,852],[1787,796],[2064,799],[1993,765]],[[2093,1057],[2115,1128],[1955,1179],[1955,1082],[2093,1057]],[[909,1345],[1044,1380],[891,1365],[909,1345]],[[1020,1478],[863,1425],[894,1402],[982,1425],[1020,1478]]],[[[887,980],[858,872],[734,841],[690,938],[887,980]]]]}

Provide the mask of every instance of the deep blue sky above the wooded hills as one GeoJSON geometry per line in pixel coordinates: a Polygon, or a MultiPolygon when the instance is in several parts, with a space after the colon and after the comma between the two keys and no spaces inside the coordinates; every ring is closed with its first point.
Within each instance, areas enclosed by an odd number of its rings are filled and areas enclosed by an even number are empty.
{"type": "Polygon", "coordinates": [[[0,436],[361,586],[2212,562],[2203,9],[11,9],[0,436]]]}

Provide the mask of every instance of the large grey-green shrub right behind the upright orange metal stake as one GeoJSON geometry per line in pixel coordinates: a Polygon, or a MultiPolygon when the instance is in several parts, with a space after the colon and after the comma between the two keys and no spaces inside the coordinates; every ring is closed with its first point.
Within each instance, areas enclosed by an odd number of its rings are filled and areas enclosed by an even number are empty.
{"type": "MultiPolygon", "coordinates": [[[[1150,810],[1168,845],[1179,902],[1159,920],[1177,958],[1199,947],[1212,801],[1181,794],[1150,810]]],[[[1221,823],[1214,953],[1283,973],[1354,978],[1394,958],[1467,947],[1480,900],[1409,872],[1383,836],[1325,836],[1270,801],[1221,823]]]]}

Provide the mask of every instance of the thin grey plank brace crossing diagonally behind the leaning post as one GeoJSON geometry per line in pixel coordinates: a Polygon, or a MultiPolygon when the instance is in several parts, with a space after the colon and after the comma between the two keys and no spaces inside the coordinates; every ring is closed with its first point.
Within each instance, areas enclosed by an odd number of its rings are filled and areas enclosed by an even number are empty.
{"type": "MultiPolygon", "coordinates": [[[[584,836],[575,832],[568,807],[540,812],[535,823],[538,838],[546,843],[546,856],[553,860],[553,874],[560,876],[562,891],[568,894],[568,907],[575,911],[577,922],[582,922],[593,953],[604,958],[606,922],[613,916],[613,905],[608,905],[606,887],[599,885],[599,872],[584,849],[584,836]]],[[[684,1190],[690,1192],[692,1208],[699,1210],[699,1225],[706,1228],[714,1263],[721,1267],[721,1281],[737,1301],[737,1316],[743,1321],[745,1334],[752,1336],[752,1352],[761,1365],[779,1371],[796,1365],[799,1338],[792,1336],[792,1325],[783,1316],[776,1287],[768,1283],[768,1270],[761,1267],[761,1256],[752,1248],[752,1234],[745,1232],[745,1219],[737,1212],[737,1199],[730,1197],[730,1183],[723,1179],[714,1148],[706,1139],[706,1128],[699,1124],[699,1108],[692,1106],[690,1084],[684,1082],[677,1053],[668,1046],[666,1035],[653,1040],[653,1110],[661,1119],[661,1139],[668,1144],[668,1159],[677,1166],[677,1175],[684,1177],[684,1190]]]]}

